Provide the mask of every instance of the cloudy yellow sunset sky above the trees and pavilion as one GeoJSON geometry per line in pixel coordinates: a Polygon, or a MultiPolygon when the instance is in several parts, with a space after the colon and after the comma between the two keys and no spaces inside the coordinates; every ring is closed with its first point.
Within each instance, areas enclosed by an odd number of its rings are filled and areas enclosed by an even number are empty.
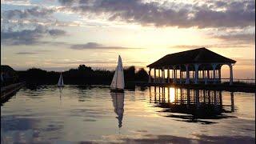
{"type": "Polygon", "coordinates": [[[146,67],[206,47],[237,61],[234,78],[255,78],[254,29],[254,0],[1,0],[1,64],[113,69],[120,54],[146,67]]]}

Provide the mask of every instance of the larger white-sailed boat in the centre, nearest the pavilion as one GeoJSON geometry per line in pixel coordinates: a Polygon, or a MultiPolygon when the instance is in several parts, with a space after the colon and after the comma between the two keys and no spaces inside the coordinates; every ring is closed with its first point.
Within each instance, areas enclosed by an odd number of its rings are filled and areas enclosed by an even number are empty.
{"type": "Polygon", "coordinates": [[[123,76],[122,58],[118,56],[118,66],[114,71],[114,77],[110,85],[110,91],[123,92],[125,88],[125,80],[123,76]]]}

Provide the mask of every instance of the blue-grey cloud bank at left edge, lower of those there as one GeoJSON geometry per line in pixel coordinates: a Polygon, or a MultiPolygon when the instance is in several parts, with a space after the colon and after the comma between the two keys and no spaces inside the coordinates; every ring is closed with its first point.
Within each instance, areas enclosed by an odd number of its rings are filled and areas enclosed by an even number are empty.
{"type": "Polygon", "coordinates": [[[19,30],[19,31],[1,31],[2,45],[33,45],[47,42],[40,42],[41,38],[46,36],[62,36],[65,35],[64,30],[48,30],[44,26],[37,26],[34,30],[19,30]]]}

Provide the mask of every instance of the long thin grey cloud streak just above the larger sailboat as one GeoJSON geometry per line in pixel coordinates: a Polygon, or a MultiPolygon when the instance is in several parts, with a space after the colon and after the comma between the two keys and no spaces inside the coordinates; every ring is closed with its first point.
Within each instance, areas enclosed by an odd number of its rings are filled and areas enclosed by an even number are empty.
{"type": "Polygon", "coordinates": [[[113,49],[113,50],[123,50],[123,49],[142,49],[142,48],[131,48],[123,46],[103,46],[102,44],[96,42],[88,42],[86,44],[71,45],[71,49],[74,50],[86,50],[86,49],[113,49]]]}

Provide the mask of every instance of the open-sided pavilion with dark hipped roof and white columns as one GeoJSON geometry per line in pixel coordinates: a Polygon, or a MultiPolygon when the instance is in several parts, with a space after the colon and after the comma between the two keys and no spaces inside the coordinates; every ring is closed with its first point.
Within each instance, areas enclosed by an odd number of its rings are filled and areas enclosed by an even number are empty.
{"type": "Polygon", "coordinates": [[[167,70],[168,83],[217,83],[221,82],[222,66],[227,65],[230,67],[230,85],[232,85],[235,62],[204,47],[167,54],[147,66],[150,68],[149,82],[166,83],[165,71],[167,70]],[[151,76],[152,69],[154,69],[153,78],[151,76]],[[156,77],[157,70],[158,77],[156,77]]]}

